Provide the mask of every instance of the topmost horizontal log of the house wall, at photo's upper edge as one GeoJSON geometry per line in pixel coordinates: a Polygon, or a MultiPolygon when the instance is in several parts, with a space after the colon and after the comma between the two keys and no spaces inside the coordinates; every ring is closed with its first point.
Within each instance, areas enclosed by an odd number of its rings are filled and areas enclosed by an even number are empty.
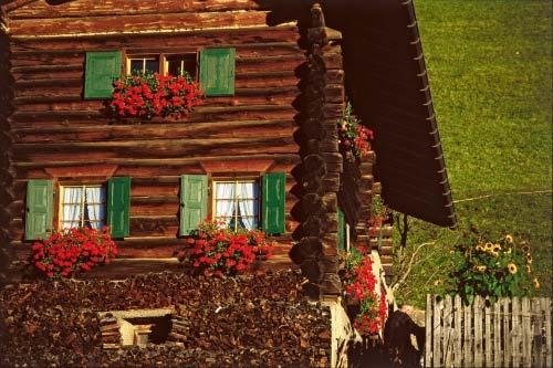
{"type": "Polygon", "coordinates": [[[42,18],[79,18],[102,15],[144,15],[164,14],[175,12],[198,11],[234,11],[234,10],[259,10],[262,6],[252,0],[157,0],[155,2],[143,2],[131,0],[116,1],[71,1],[60,4],[49,4],[36,1],[10,12],[11,19],[42,19],[42,18]]]}

